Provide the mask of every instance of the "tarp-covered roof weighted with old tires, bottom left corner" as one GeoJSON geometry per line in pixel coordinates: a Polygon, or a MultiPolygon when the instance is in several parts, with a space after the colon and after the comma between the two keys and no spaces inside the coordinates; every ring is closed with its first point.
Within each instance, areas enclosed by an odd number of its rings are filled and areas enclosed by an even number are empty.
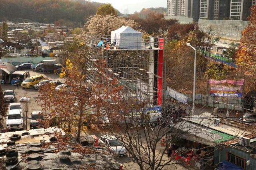
{"type": "Polygon", "coordinates": [[[6,169],[118,169],[109,152],[81,146],[57,127],[2,133],[0,143],[0,163],[6,169]]]}

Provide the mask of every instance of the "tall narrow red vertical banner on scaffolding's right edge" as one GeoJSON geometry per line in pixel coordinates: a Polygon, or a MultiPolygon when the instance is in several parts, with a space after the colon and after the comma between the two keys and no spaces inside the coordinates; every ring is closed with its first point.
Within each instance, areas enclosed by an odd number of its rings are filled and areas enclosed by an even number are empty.
{"type": "Polygon", "coordinates": [[[162,105],[162,84],[163,84],[163,58],[164,58],[164,39],[158,39],[158,79],[157,79],[157,105],[162,105]]]}

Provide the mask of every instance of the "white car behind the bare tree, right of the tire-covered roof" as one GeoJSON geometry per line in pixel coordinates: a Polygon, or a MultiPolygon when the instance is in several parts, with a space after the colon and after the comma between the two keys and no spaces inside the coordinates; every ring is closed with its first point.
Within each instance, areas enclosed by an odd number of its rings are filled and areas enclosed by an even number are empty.
{"type": "Polygon", "coordinates": [[[118,140],[115,136],[104,135],[99,139],[99,146],[108,147],[110,153],[116,156],[122,156],[127,154],[127,150],[124,144],[118,140]]]}

